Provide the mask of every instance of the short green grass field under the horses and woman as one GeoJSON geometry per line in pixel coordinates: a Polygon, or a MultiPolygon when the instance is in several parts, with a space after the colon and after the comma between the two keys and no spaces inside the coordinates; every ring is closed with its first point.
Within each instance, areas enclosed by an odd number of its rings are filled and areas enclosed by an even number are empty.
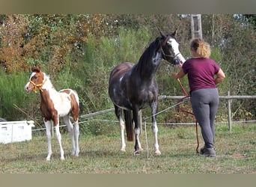
{"type": "MultiPolygon", "coordinates": [[[[118,126],[108,135],[80,135],[80,155],[70,155],[70,137],[62,135],[66,159],[60,160],[58,143],[52,138],[52,159],[46,162],[45,135],[34,135],[31,141],[0,144],[1,174],[255,174],[256,124],[240,123],[216,126],[216,158],[198,156],[195,126],[159,126],[161,156],[153,155],[153,137],[147,126],[149,156],[144,131],[144,151],[133,156],[134,143],[127,142],[127,153],[119,151],[118,126]]],[[[200,130],[200,128],[198,127],[200,130]]],[[[33,132],[34,133],[34,132],[33,132]]],[[[199,132],[199,135],[201,133],[199,132]]],[[[203,146],[201,135],[200,147],[203,146]]]]}

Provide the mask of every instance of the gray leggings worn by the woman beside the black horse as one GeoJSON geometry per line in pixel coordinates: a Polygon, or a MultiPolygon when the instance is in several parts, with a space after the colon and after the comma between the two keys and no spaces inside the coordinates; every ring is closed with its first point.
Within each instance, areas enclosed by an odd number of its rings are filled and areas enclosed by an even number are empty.
{"type": "Polygon", "coordinates": [[[204,88],[192,91],[190,101],[195,118],[201,126],[204,146],[214,147],[214,120],[219,107],[218,89],[204,88]]]}

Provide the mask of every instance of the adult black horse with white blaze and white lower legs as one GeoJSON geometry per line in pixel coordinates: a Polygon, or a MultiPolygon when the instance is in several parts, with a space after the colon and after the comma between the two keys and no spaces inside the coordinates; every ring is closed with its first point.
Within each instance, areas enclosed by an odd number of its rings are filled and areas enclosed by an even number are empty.
{"type": "Polygon", "coordinates": [[[156,70],[163,59],[171,64],[180,64],[185,60],[180,54],[179,44],[175,39],[176,31],[157,37],[144,51],[137,64],[125,62],[119,64],[110,73],[109,96],[115,105],[115,114],[121,128],[121,151],[125,151],[124,120],[127,129],[127,141],[133,141],[135,133],[135,154],[141,149],[138,136],[141,133],[141,109],[150,106],[152,114],[152,132],[154,134],[154,150],[160,155],[157,141],[158,128],[156,125],[158,85],[156,70]],[[123,112],[124,111],[124,118],[123,112]],[[123,120],[124,119],[124,120],[123,120]]]}

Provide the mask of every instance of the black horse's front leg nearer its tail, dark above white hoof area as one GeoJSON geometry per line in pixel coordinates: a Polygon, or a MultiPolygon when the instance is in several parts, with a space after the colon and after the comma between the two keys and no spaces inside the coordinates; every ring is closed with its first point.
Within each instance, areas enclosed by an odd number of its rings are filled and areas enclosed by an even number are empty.
{"type": "Polygon", "coordinates": [[[138,108],[132,110],[134,120],[134,133],[135,133],[135,151],[134,155],[138,155],[141,150],[141,142],[139,141],[139,135],[141,134],[141,111],[138,108]]]}

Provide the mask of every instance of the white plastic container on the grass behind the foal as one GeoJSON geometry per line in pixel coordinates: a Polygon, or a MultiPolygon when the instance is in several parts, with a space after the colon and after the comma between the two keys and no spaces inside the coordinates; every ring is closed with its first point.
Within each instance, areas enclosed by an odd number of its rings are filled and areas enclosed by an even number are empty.
{"type": "Polygon", "coordinates": [[[7,144],[32,139],[33,120],[0,122],[0,143],[7,144]]]}

